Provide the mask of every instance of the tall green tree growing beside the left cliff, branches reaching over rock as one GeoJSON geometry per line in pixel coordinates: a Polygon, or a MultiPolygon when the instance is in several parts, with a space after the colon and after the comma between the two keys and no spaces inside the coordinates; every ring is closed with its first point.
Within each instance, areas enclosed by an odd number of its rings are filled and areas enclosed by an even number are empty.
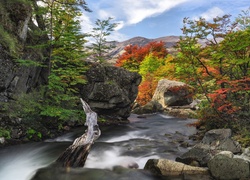
{"type": "MultiPolygon", "coordinates": [[[[37,119],[37,117],[54,117],[61,120],[82,119],[82,111],[78,106],[79,86],[85,83],[84,72],[87,69],[84,58],[86,53],[84,44],[86,35],[81,33],[79,17],[81,8],[85,7],[84,1],[77,0],[44,0],[39,6],[37,1],[32,1],[34,7],[33,17],[37,24],[30,22],[33,34],[36,34],[32,50],[46,50],[48,56],[43,57],[44,65],[49,71],[48,84],[40,87],[36,95],[38,100],[32,101],[28,107],[21,106],[19,117],[37,119]],[[46,37],[47,41],[40,41],[46,37]],[[37,103],[37,105],[35,105],[37,103]],[[31,111],[29,111],[29,109],[31,111]]],[[[35,59],[22,60],[23,65],[36,65],[35,59]],[[30,63],[34,61],[34,63],[30,63]],[[29,62],[29,63],[28,63],[29,62]]],[[[44,66],[43,65],[43,66],[44,66]]],[[[27,96],[24,96],[27,99],[27,96]]],[[[23,104],[25,98],[18,101],[23,104]]],[[[31,98],[34,99],[34,98],[31,98]]]]}

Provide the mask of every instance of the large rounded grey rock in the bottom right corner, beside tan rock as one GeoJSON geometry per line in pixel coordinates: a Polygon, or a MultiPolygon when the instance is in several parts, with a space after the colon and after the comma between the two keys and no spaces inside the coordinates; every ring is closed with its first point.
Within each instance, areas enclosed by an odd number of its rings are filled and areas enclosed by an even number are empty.
{"type": "Polygon", "coordinates": [[[249,179],[249,161],[235,158],[232,152],[222,151],[209,162],[208,168],[213,177],[220,180],[249,179]]]}

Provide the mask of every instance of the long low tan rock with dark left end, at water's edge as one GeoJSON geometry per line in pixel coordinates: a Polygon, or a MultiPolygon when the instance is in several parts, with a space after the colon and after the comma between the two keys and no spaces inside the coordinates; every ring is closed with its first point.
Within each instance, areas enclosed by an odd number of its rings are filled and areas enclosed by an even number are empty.
{"type": "Polygon", "coordinates": [[[163,176],[209,175],[207,168],[189,166],[168,159],[149,159],[144,169],[163,176]]]}

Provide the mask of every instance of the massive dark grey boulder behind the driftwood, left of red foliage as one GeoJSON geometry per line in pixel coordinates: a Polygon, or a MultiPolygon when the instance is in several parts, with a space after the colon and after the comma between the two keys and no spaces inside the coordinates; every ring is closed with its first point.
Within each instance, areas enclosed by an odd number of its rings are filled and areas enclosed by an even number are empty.
{"type": "Polygon", "coordinates": [[[86,73],[88,83],[81,96],[99,116],[127,119],[137,93],[141,76],[123,68],[97,65],[86,73]]]}

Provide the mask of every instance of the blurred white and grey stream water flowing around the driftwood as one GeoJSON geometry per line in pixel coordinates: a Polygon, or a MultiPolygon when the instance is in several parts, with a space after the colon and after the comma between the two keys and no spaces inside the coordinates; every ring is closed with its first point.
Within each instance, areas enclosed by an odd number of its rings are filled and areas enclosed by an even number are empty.
{"type": "MultiPolygon", "coordinates": [[[[132,114],[129,120],[129,124],[100,127],[102,135],[92,146],[84,168],[112,170],[116,166],[123,166],[143,169],[148,159],[174,160],[194,144],[188,136],[196,130],[187,126],[194,120],[162,114],[148,115],[146,118],[137,118],[132,114]]],[[[79,128],[45,142],[0,149],[0,179],[31,179],[39,168],[55,161],[84,130],[79,128]]]]}

